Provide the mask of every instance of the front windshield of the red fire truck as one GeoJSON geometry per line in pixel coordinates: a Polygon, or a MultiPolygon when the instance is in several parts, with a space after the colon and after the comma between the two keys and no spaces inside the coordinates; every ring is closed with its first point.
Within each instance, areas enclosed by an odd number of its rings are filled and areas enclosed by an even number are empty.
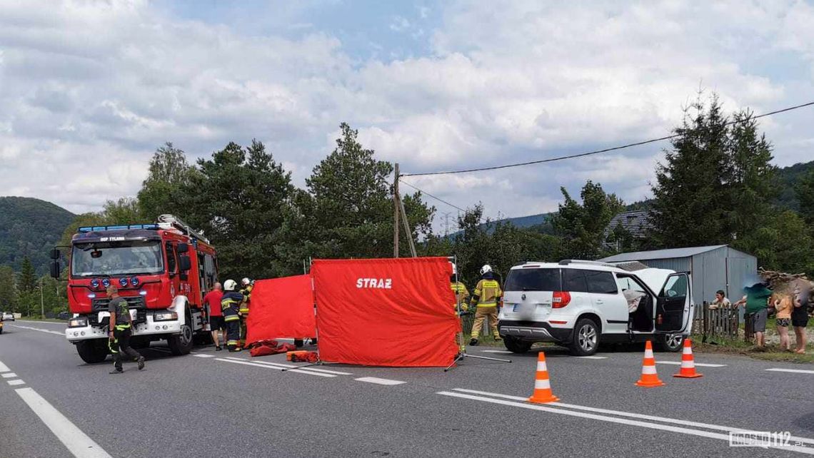
{"type": "Polygon", "coordinates": [[[164,272],[160,241],[77,243],[71,255],[73,277],[164,272]]]}

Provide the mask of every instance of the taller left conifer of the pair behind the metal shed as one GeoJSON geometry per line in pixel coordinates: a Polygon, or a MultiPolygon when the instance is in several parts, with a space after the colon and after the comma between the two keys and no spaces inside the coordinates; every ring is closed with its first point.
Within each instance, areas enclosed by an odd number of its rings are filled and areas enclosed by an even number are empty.
{"type": "Polygon", "coordinates": [[[728,243],[730,173],[727,119],[713,95],[709,107],[700,97],[685,111],[665,162],[656,168],[652,186],[649,242],[652,247],[728,243]],[[694,115],[690,111],[694,111],[694,115]]]}

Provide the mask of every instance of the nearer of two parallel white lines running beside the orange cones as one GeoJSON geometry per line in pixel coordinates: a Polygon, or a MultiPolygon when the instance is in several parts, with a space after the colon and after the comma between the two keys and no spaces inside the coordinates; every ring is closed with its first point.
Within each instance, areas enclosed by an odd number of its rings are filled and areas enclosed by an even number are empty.
{"type": "MultiPolygon", "coordinates": [[[[663,430],[663,431],[670,431],[672,433],[680,433],[680,434],[689,434],[694,436],[700,436],[704,438],[714,438],[720,439],[729,442],[729,434],[720,434],[720,433],[712,433],[710,431],[702,431],[702,430],[691,430],[689,428],[681,428],[679,426],[671,426],[671,425],[661,425],[658,423],[648,423],[646,421],[637,421],[637,420],[630,420],[625,418],[617,418],[617,417],[606,417],[603,415],[596,415],[593,413],[585,413],[585,412],[574,412],[571,410],[566,410],[562,408],[550,408],[545,407],[544,405],[540,404],[532,404],[532,403],[519,403],[514,401],[508,401],[503,399],[493,399],[493,398],[484,398],[475,395],[465,395],[463,393],[455,393],[451,391],[439,391],[435,393],[436,395],[444,395],[444,396],[451,396],[453,398],[461,398],[461,399],[470,399],[475,401],[480,401],[484,403],[496,403],[510,407],[517,407],[517,408],[526,408],[529,410],[536,410],[540,412],[549,412],[549,413],[557,413],[559,415],[567,415],[569,417],[580,417],[580,418],[589,418],[591,420],[599,420],[599,421],[607,421],[610,423],[618,423],[620,425],[632,425],[632,426],[640,426],[642,428],[649,428],[650,430],[663,430]]],[[[792,439],[794,440],[794,439],[792,439]]],[[[772,447],[777,448],[778,450],[784,451],[797,451],[799,453],[805,453],[807,455],[814,455],[814,448],[806,448],[806,447],[772,447]]]]}

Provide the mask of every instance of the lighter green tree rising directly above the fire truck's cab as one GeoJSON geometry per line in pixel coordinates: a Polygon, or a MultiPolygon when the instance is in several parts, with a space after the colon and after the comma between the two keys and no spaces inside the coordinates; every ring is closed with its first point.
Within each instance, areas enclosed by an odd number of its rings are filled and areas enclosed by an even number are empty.
{"type": "Polygon", "coordinates": [[[189,185],[195,168],[186,161],[186,153],[167,142],[150,159],[147,179],[138,191],[138,213],[149,221],[159,215],[180,212],[182,190],[189,185]]]}

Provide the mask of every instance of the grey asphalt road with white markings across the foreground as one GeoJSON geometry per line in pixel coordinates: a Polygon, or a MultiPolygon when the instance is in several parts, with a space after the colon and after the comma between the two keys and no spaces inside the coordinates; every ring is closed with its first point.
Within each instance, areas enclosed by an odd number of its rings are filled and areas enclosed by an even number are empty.
{"type": "Polygon", "coordinates": [[[84,364],[63,329],[16,321],[0,335],[0,456],[814,455],[814,365],[703,354],[697,364],[716,366],[679,379],[678,366],[664,363],[681,355],[657,353],[667,386],[645,389],[633,384],[640,351],[551,350],[561,401],[539,405],[523,401],[533,351],[470,347],[513,362],[466,359],[449,373],[333,364],[283,372],[273,364],[288,364],[284,355],[198,347],[173,357],[154,344],[142,351],[144,371],[125,364],[110,375],[109,362],[84,364]],[[730,430],[788,431],[798,446],[730,447],[730,430]]]}

